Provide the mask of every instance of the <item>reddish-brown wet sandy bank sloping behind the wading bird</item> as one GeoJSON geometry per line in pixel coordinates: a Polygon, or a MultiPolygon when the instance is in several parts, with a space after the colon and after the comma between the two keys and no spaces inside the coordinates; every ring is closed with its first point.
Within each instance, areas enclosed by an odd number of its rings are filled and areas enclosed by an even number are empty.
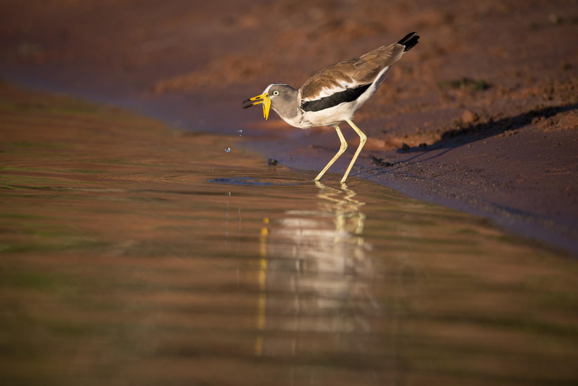
{"type": "MultiPolygon", "coordinates": [[[[355,175],[576,253],[576,9],[573,1],[8,1],[0,72],[195,132],[243,129],[246,149],[318,170],[337,150],[332,129],[292,129],[275,114],[264,123],[239,102],[273,81],[299,87],[325,65],[418,31],[420,44],[356,114],[369,141],[355,175]]],[[[357,144],[345,134],[350,148],[335,172],[357,144]]]]}

